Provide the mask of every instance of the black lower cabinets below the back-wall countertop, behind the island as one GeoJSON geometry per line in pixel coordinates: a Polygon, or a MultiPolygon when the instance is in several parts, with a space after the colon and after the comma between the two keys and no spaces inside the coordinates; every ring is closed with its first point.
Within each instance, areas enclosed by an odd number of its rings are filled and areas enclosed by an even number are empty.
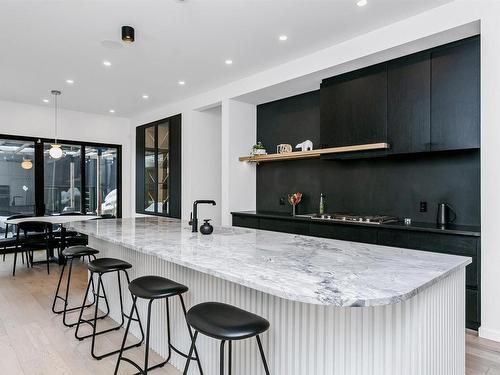
{"type": "Polygon", "coordinates": [[[479,237],[237,214],[233,214],[233,225],[471,257],[472,263],[466,268],[466,326],[474,330],[480,326],[481,241],[479,237]]]}

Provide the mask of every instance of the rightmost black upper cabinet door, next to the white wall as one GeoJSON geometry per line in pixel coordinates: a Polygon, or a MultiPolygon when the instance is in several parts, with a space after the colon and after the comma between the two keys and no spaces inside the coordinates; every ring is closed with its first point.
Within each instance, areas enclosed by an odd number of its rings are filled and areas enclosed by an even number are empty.
{"type": "Polygon", "coordinates": [[[432,53],[431,150],[479,147],[479,38],[432,53]]]}

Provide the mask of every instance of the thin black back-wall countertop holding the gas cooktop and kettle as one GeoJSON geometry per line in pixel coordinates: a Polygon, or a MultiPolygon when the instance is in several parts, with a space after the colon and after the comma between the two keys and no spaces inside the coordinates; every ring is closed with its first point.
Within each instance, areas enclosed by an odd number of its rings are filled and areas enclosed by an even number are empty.
{"type": "Polygon", "coordinates": [[[438,226],[433,223],[420,223],[412,222],[407,225],[404,222],[395,222],[387,224],[367,224],[367,223],[354,223],[354,222],[341,222],[341,221],[330,221],[330,220],[320,220],[311,219],[306,216],[292,216],[285,212],[270,212],[270,211],[239,211],[231,212],[232,215],[238,216],[252,216],[252,217],[262,217],[269,219],[282,219],[282,220],[297,220],[297,221],[309,221],[315,223],[324,223],[332,225],[358,225],[370,228],[387,228],[387,229],[398,229],[398,230],[411,230],[418,232],[432,232],[432,233],[443,233],[443,234],[457,234],[462,236],[481,236],[481,227],[475,225],[455,225],[448,224],[444,227],[438,226]]]}

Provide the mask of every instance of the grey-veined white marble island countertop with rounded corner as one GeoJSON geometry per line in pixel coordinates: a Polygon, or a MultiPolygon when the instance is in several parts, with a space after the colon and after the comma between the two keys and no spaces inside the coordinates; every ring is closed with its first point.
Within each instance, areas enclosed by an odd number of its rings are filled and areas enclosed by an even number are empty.
{"type": "Polygon", "coordinates": [[[406,300],[471,258],[263,230],[191,233],[159,217],[65,224],[68,229],[157,256],[281,298],[328,306],[406,300]]]}

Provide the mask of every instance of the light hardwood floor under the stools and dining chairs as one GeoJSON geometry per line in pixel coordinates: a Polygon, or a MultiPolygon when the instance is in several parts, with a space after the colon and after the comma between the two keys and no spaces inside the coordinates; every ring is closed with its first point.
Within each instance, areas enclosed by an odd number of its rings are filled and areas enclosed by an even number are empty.
{"type": "MultiPolygon", "coordinates": [[[[72,295],[76,297],[70,304],[81,302],[86,283],[86,267],[80,262],[76,264],[72,284],[72,295]]],[[[76,340],[74,330],[64,327],[62,317],[51,311],[60,267],[51,265],[51,274],[47,275],[42,265],[33,269],[20,265],[16,277],[12,277],[11,266],[11,257],[0,261],[0,375],[113,374],[116,356],[101,361],[92,359],[90,341],[76,340]]],[[[122,338],[123,330],[103,335],[96,349],[101,352],[117,348],[122,338]]],[[[143,353],[144,345],[128,351],[127,356],[142,363],[143,353]]],[[[150,358],[151,363],[161,360],[154,353],[150,358]]],[[[500,375],[500,343],[467,332],[466,362],[467,375],[500,375]]],[[[120,367],[120,374],[134,372],[128,364],[120,367]]],[[[180,374],[170,365],[153,373],[180,374]]]]}

